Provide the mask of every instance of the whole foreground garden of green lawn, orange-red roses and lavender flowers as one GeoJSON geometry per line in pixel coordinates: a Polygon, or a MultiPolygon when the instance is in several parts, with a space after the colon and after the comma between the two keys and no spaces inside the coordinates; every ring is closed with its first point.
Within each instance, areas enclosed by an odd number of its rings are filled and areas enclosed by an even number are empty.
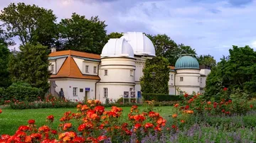
{"type": "Polygon", "coordinates": [[[7,101],[0,111],[0,142],[255,142],[255,100],[240,91],[224,99],[226,90],[219,99],[184,93],[171,106],[144,101],[117,107],[89,100],[61,108],[53,103],[70,101],[48,96],[41,104],[54,108],[28,103],[17,110],[15,105],[25,103],[7,101]]]}

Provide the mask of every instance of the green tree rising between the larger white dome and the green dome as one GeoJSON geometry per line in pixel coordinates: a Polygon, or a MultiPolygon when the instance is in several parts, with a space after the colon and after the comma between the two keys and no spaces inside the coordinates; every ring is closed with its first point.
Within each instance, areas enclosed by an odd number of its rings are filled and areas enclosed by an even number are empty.
{"type": "Polygon", "coordinates": [[[153,42],[156,56],[162,56],[168,59],[171,65],[175,65],[178,57],[181,54],[194,54],[196,55],[196,50],[192,49],[190,46],[185,46],[183,44],[177,45],[174,40],[171,40],[168,35],[146,35],[153,42]]]}

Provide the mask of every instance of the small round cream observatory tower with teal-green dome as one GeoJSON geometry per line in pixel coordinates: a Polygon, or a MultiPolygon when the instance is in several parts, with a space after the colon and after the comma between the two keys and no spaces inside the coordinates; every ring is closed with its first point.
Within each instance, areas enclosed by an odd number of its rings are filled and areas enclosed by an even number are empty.
{"type": "MultiPolygon", "coordinates": [[[[175,64],[176,89],[192,94],[193,91],[200,92],[200,69],[199,63],[195,57],[188,55],[178,58],[175,64]]],[[[181,93],[177,93],[179,95],[181,93]]]]}

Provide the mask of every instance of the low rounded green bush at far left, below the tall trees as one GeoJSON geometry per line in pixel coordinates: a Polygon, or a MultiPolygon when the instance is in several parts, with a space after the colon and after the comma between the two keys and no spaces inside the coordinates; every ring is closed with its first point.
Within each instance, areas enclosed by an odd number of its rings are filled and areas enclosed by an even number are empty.
{"type": "Polygon", "coordinates": [[[43,89],[31,87],[31,85],[26,83],[14,83],[4,90],[2,97],[4,100],[16,99],[18,101],[31,102],[36,101],[38,96],[43,98],[43,89]]]}

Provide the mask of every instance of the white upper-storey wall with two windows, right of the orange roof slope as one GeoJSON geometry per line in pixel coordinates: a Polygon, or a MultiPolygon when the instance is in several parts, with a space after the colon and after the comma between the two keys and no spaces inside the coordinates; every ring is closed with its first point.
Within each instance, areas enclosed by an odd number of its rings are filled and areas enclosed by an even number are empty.
{"type": "Polygon", "coordinates": [[[84,59],[79,59],[77,57],[73,57],[73,59],[75,60],[75,63],[78,65],[78,68],[80,69],[82,74],[97,75],[97,71],[98,71],[97,68],[98,68],[99,62],[86,61],[84,59]],[[85,66],[89,66],[88,72],[85,72],[85,66]],[[96,73],[94,73],[93,71],[94,67],[96,67],[96,73]]]}

